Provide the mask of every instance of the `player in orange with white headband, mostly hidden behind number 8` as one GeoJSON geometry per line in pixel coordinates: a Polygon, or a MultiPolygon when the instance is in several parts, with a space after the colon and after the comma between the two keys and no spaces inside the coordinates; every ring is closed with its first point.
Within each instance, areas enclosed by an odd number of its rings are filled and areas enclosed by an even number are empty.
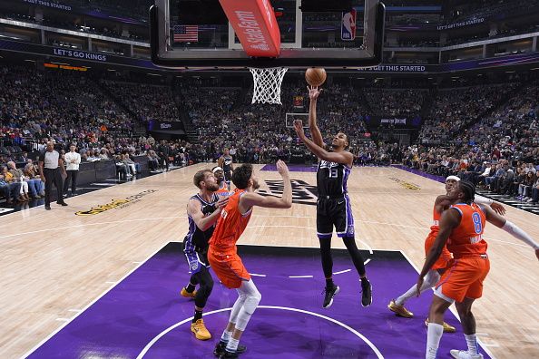
{"type": "MultiPolygon", "coordinates": [[[[448,197],[449,191],[456,186],[456,183],[460,181],[460,179],[456,176],[449,176],[446,178],[446,194],[442,196],[438,196],[435,201],[434,209],[433,209],[433,224],[430,228],[430,233],[425,239],[425,255],[428,254],[430,251],[430,248],[434,244],[434,241],[436,239],[436,236],[438,234],[439,225],[438,222],[440,220],[440,217],[442,216],[442,212],[449,208],[451,199],[448,197]]],[[[501,215],[505,214],[504,206],[502,206],[499,203],[495,203],[492,199],[486,199],[481,196],[475,196],[475,203],[477,204],[485,204],[490,205],[492,209],[495,209],[495,211],[501,215]]],[[[436,263],[431,268],[431,270],[428,271],[425,277],[425,281],[423,282],[423,286],[421,287],[421,293],[425,292],[426,290],[432,288],[433,286],[438,283],[440,280],[440,276],[444,273],[446,270],[447,262],[451,260],[452,256],[451,253],[447,250],[446,247],[442,249],[442,254],[436,260],[436,263]]],[[[405,318],[411,318],[414,316],[412,312],[407,310],[405,307],[405,304],[408,299],[410,299],[412,296],[416,296],[416,285],[411,286],[406,293],[404,293],[402,296],[398,296],[397,299],[392,300],[389,302],[387,307],[392,312],[396,313],[399,316],[403,316],[405,318]]],[[[428,325],[428,322],[426,321],[426,325],[428,325]]],[[[453,325],[448,325],[446,322],[444,322],[444,332],[446,333],[455,333],[456,328],[453,325]]]]}

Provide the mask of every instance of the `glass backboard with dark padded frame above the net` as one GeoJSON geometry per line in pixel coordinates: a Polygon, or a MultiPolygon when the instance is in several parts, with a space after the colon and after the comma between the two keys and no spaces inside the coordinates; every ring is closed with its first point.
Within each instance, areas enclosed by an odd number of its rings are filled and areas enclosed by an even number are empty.
{"type": "Polygon", "coordinates": [[[384,15],[378,0],[155,0],[152,62],[188,70],[376,66],[382,58],[384,15]],[[274,16],[279,54],[246,53],[234,31],[238,24],[229,21],[232,14],[245,12],[230,13],[227,1],[259,3],[267,10],[263,17],[274,16]]]}

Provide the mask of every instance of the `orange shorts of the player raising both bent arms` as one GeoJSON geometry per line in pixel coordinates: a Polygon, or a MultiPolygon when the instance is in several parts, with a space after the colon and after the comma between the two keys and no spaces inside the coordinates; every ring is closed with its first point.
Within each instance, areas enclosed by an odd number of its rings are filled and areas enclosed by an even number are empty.
{"type": "Polygon", "coordinates": [[[223,252],[210,246],[208,261],[220,282],[229,288],[239,288],[242,281],[250,280],[250,274],[236,252],[223,252]]]}

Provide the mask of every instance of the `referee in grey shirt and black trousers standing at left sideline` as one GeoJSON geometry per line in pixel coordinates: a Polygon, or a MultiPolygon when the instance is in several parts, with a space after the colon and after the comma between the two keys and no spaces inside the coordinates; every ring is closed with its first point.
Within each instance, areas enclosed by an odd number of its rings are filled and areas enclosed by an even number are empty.
{"type": "Polygon", "coordinates": [[[48,141],[46,150],[39,155],[39,174],[45,184],[45,209],[51,209],[51,189],[53,188],[53,183],[56,186],[58,195],[56,203],[67,206],[67,203],[64,202],[64,186],[60,169],[62,169],[62,173],[66,177],[67,173],[64,169],[64,160],[60,158],[60,153],[54,150],[53,142],[48,141]]]}

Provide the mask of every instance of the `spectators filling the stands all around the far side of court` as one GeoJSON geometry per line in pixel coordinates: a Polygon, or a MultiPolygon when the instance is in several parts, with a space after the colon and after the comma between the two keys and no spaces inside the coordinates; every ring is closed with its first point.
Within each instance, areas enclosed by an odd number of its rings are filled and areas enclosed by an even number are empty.
{"type": "MultiPolygon", "coordinates": [[[[314,160],[285,121],[286,113],[309,111],[302,81],[284,82],[283,104],[272,106],[251,105],[252,89],[214,82],[154,86],[14,65],[1,66],[0,74],[5,89],[0,93],[0,168],[5,167],[0,194],[10,201],[42,193],[22,148],[34,143],[32,150],[44,150],[51,140],[64,150],[75,143],[83,161],[115,160],[124,178],[138,172],[133,156],[146,156],[151,170],[215,161],[223,148],[237,162],[290,160],[298,151],[314,160]],[[179,121],[182,114],[197,130],[191,143],[157,141],[134,131],[137,124],[179,121]]],[[[439,176],[456,174],[493,192],[536,202],[539,83],[528,78],[458,83],[457,88],[398,90],[336,81],[319,98],[319,127],[328,136],[347,133],[358,164],[404,163],[439,176]],[[368,115],[415,116],[427,98],[432,103],[417,144],[370,140],[368,115]]]]}

